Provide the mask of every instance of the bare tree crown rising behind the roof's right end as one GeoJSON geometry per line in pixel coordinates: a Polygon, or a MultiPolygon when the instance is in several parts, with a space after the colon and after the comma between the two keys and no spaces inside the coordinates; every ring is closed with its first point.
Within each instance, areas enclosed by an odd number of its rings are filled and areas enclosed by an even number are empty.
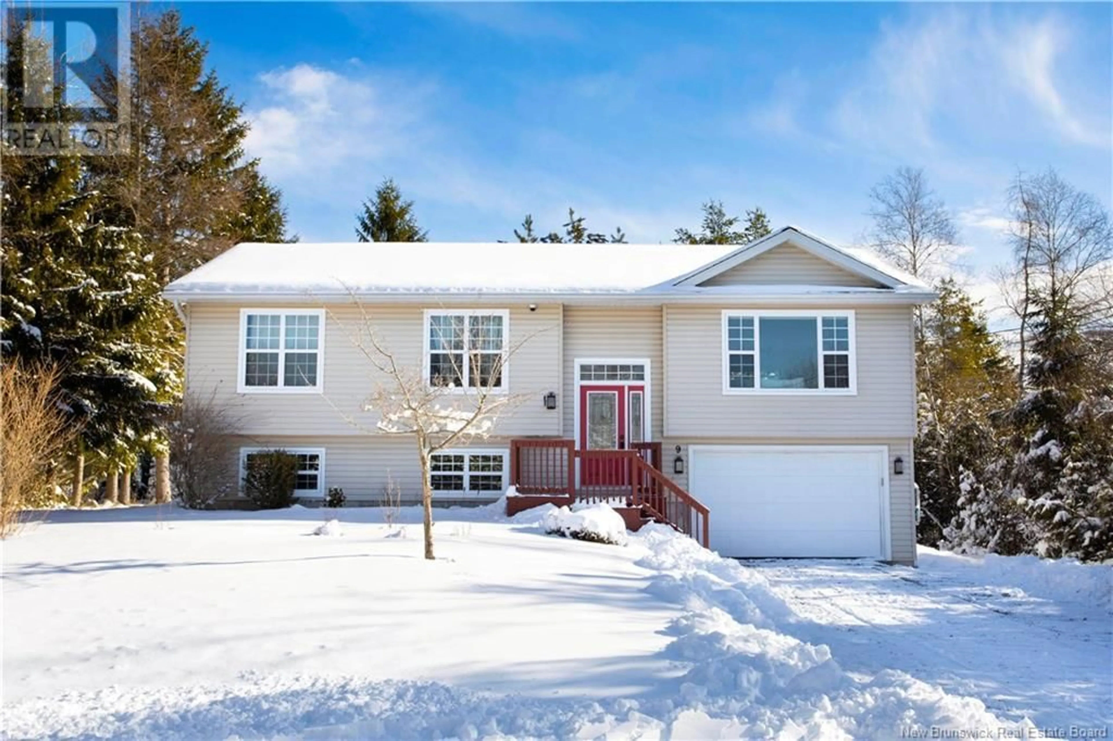
{"type": "Polygon", "coordinates": [[[900,167],[869,191],[870,245],[906,273],[930,280],[955,257],[958,230],[924,170],[900,167]]]}

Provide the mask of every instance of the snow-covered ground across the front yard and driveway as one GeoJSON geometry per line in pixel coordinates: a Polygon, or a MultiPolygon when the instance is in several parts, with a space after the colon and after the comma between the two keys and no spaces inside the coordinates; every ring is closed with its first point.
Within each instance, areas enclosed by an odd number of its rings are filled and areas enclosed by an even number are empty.
{"type": "Polygon", "coordinates": [[[1109,721],[1109,613],[1083,621],[1085,602],[959,596],[976,567],[948,556],[750,567],[662,526],[624,546],[549,536],[542,514],[437,512],[426,562],[420,526],[376,510],[51,513],[3,545],[4,730],[679,741],[1109,721]],[[828,577],[859,622],[817,606],[828,577]],[[1027,665],[1003,665],[995,630],[1027,665]]]}

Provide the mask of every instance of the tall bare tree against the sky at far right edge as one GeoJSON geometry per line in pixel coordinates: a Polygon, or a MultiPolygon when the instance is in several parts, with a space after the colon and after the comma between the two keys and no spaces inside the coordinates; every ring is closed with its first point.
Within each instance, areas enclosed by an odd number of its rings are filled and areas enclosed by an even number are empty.
{"type": "Polygon", "coordinates": [[[1014,269],[1004,276],[1006,305],[1021,323],[1024,384],[1033,297],[1068,307],[1083,327],[1107,328],[1113,318],[1113,225],[1093,196],[1048,169],[1020,174],[1008,190],[1014,269]]]}

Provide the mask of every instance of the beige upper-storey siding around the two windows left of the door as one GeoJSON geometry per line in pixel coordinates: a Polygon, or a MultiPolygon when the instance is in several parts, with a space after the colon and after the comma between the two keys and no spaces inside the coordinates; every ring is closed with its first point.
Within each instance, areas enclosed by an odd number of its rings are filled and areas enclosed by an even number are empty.
{"type": "MultiPolygon", "coordinates": [[[[246,308],[278,310],[280,305],[249,304],[246,308]]],[[[359,435],[374,428],[378,416],[364,403],[385,376],[377,375],[356,346],[362,320],[358,307],[325,307],[322,394],[236,392],[239,362],[240,306],[197,304],[187,307],[189,344],[186,384],[190,393],[230,408],[246,435],[299,436],[359,435]],[[352,422],[349,422],[351,419],[352,422]],[[353,422],[355,424],[353,424],[353,422]]],[[[305,308],[301,306],[301,308],[305,308]]],[[[469,306],[469,309],[510,309],[509,393],[519,404],[499,422],[499,435],[556,435],[560,417],[543,408],[545,392],[560,387],[560,305],[469,306]]],[[[421,306],[368,305],[367,316],[380,342],[401,364],[421,368],[424,347],[424,309],[421,306]]]]}

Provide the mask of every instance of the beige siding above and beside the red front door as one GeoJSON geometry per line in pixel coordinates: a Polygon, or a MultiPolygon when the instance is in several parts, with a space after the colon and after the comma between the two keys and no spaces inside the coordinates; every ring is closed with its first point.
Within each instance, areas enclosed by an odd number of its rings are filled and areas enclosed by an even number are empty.
{"type": "Polygon", "coordinates": [[[650,379],[650,434],[659,439],[663,429],[661,308],[651,307],[564,307],[564,437],[575,437],[577,359],[648,358],[650,379]]]}

